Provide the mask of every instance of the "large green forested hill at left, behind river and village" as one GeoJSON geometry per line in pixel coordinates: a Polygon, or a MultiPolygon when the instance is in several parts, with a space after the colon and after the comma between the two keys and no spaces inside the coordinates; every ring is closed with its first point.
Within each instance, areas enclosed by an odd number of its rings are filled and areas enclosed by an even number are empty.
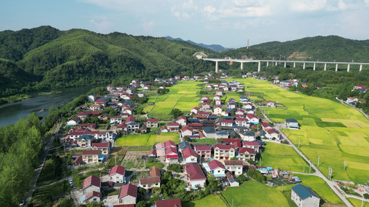
{"type": "Polygon", "coordinates": [[[184,41],[41,26],[0,32],[0,97],[46,88],[123,84],[131,79],[193,75],[211,50],[184,41]]]}

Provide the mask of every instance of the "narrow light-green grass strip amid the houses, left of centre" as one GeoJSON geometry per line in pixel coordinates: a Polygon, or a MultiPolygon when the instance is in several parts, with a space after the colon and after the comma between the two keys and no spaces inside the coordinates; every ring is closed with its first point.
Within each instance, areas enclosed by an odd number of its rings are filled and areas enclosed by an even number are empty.
{"type": "MultiPolygon", "coordinates": [[[[176,144],[179,142],[179,134],[177,132],[161,133],[160,135],[126,135],[116,140],[117,146],[152,146],[164,141],[172,140],[176,144]]],[[[147,150],[147,148],[145,148],[147,150]]],[[[150,150],[150,149],[148,149],[150,150]]]]}

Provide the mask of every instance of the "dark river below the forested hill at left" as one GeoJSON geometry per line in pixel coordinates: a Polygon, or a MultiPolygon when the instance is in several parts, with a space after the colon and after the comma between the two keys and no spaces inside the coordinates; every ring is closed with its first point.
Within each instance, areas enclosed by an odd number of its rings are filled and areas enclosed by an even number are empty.
{"type": "Polygon", "coordinates": [[[48,108],[51,106],[63,106],[69,103],[75,97],[84,95],[91,88],[97,86],[82,86],[76,88],[65,88],[60,93],[51,95],[33,95],[32,99],[19,101],[15,103],[6,103],[0,105],[0,126],[7,126],[8,124],[15,124],[19,118],[26,118],[30,113],[36,112],[37,116],[46,117],[48,115],[48,108]],[[40,112],[42,108],[46,110],[40,112]]]}

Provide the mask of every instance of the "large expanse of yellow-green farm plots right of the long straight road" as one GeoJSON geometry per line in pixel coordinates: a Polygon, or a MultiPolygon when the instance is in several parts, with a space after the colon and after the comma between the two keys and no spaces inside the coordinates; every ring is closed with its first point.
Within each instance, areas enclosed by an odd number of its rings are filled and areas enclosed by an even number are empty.
{"type": "MultiPolygon", "coordinates": [[[[318,163],[320,156],[318,168],[325,176],[328,175],[328,167],[332,166],[334,179],[360,184],[366,182],[369,174],[369,121],[359,111],[329,99],[290,92],[267,81],[235,81],[255,87],[246,88],[247,92],[262,92],[264,99],[286,106],[264,110],[274,122],[284,122],[288,118],[299,121],[300,130],[285,130],[285,134],[296,146],[300,141],[300,150],[314,164],[318,163]]],[[[278,164],[278,161],[273,162],[278,164]]]]}

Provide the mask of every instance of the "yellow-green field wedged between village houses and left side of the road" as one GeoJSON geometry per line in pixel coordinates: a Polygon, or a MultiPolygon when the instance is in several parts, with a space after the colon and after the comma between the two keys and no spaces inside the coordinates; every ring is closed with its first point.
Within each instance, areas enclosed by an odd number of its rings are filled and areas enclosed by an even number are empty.
{"type": "Polygon", "coordinates": [[[273,167],[274,169],[291,170],[305,172],[308,164],[291,146],[267,142],[262,156],[262,166],[273,167]]]}

